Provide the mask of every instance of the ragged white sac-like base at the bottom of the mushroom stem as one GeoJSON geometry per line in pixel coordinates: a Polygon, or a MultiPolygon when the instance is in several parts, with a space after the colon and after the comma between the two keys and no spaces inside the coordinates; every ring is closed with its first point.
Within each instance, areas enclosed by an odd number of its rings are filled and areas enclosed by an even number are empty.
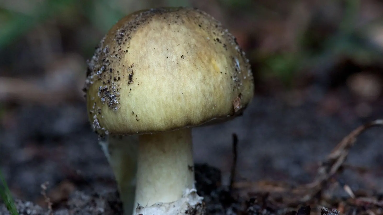
{"type": "Polygon", "coordinates": [[[171,203],[156,203],[152,206],[136,208],[135,215],[205,215],[203,197],[196,189],[187,189],[182,198],[171,203]]]}

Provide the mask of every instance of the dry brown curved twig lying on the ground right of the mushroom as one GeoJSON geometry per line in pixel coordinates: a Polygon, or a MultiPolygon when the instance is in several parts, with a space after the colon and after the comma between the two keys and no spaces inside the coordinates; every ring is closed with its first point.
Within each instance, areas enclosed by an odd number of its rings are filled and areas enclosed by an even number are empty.
{"type": "MultiPolygon", "coordinates": [[[[370,127],[382,126],[383,119],[378,119],[373,122],[362,125],[352,131],[349,135],[344,137],[342,141],[327,155],[326,160],[324,160],[318,169],[318,175],[314,179],[313,182],[309,184],[305,184],[303,186],[292,187],[289,184],[283,182],[270,182],[270,181],[259,181],[259,182],[235,182],[233,187],[246,190],[245,192],[249,194],[249,192],[268,192],[274,194],[284,194],[284,204],[301,204],[307,203],[313,200],[316,197],[321,197],[322,192],[331,182],[337,182],[340,186],[343,187],[345,192],[350,195],[352,198],[351,205],[344,202],[349,206],[355,207],[358,205],[375,205],[378,207],[383,207],[381,201],[376,200],[374,198],[358,198],[355,197],[354,192],[351,190],[350,186],[344,183],[339,179],[338,175],[341,171],[346,168],[350,168],[345,164],[345,160],[349,155],[349,151],[354,145],[356,138],[363,131],[370,127]],[[334,180],[335,179],[335,180],[334,180]],[[253,189],[252,191],[249,191],[253,189]],[[287,197],[287,198],[286,198],[287,197]]],[[[358,168],[360,170],[362,168],[358,168]]],[[[363,169],[366,171],[365,169],[363,169]]],[[[364,172],[363,171],[363,172],[364,172]]],[[[359,171],[360,172],[360,171],[359,171]]],[[[340,204],[339,207],[341,210],[344,209],[346,205],[340,204]]]]}

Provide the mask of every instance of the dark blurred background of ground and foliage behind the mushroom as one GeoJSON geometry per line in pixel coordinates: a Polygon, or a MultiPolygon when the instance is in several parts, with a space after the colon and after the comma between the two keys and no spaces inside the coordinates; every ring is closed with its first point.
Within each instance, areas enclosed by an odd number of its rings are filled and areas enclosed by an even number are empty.
{"type": "MultiPolygon", "coordinates": [[[[244,116],[193,131],[195,161],[224,182],[231,133],[237,181],[301,184],[351,130],[383,117],[382,0],[1,0],[0,169],[15,197],[42,203],[46,181],[53,200],[114,189],[87,121],[86,60],[119,18],[158,6],[210,13],[252,64],[244,116]]],[[[343,179],[352,189],[383,192],[382,141],[378,128],[358,139],[343,179]]]]}

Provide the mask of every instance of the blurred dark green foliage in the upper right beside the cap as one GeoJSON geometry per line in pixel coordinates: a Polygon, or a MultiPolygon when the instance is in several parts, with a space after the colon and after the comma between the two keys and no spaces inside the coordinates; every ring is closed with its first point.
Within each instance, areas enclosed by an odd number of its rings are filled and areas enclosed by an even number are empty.
{"type": "MultiPolygon", "coordinates": [[[[292,87],[298,71],[329,64],[334,60],[349,58],[360,64],[371,64],[383,59],[383,47],[373,44],[365,32],[373,24],[357,28],[360,0],[338,1],[345,3],[342,21],[329,37],[318,36],[313,29],[304,29],[298,36],[298,50],[275,52],[268,56],[257,55],[261,63],[261,73],[266,77],[277,77],[285,87],[292,87]]],[[[381,20],[383,21],[383,20],[381,20]]],[[[378,22],[376,20],[375,22],[378,22]]],[[[381,26],[383,28],[383,26],[381,26]]]]}

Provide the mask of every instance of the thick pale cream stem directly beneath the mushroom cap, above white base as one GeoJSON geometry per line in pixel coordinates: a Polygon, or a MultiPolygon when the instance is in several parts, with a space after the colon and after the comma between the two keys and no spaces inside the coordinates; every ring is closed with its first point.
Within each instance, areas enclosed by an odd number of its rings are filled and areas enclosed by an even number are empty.
{"type": "Polygon", "coordinates": [[[190,128],[139,135],[138,153],[135,207],[175,202],[194,187],[190,128]]]}

